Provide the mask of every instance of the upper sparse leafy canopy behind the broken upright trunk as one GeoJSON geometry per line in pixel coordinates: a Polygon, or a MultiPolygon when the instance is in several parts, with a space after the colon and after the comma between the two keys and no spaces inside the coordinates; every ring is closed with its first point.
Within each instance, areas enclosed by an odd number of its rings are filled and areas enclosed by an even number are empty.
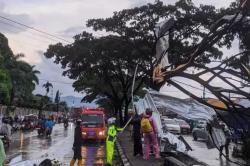
{"type": "MultiPolygon", "coordinates": [[[[166,6],[163,2],[156,1],[154,4],[115,12],[107,19],[91,19],[87,25],[94,30],[106,30],[126,38],[136,50],[141,52],[141,56],[152,60],[157,41],[154,36],[155,25],[166,18],[174,18],[169,60],[173,66],[178,66],[189,58],[188,54],[181,54],[181,52],[195,49],[196,44],[207,33],[209,26],[220,16],[214,6],[196,7],[193,3],[186,3],[186,0],[166,6]]],[[[210,63],[211,59],[218,59],[221,56],[222,52],[212,47],[197,61],[210,63]]]]}

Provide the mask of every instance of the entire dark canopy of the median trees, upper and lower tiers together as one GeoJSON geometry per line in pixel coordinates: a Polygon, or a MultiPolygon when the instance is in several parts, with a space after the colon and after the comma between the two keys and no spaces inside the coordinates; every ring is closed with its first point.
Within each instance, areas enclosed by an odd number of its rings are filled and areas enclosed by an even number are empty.
{"type": "MultiPolygon", "coordinates": [[[[161,1],[141,7],[114,12],[109,18],[90,19],[87,26],[95,31],[106,31],[109,35],[96,37],[82,32],[74,37],[75,42],[63,46],[50,45],[45,56],[65,69],[63,75],[76,80],[73,87],[86,93],[83,100],[108,102],[114,113],[125,107],[125,120],[131,102],[133,73],[138,64],[135,92],[142,87],[154,88],[152,73],[157,38],[156,23],[174,18],[170,33],[169,60],[173,68],[188,61],[190,51],[207,34],[210,25],[230,10],[216,10],[214,6],[195,6],[191,1],[179,0],[175,5],[164,5],[161,1]],[[185,54],[183,54],[185,52],[185,54]],[[187,53],[187,54],[186,54],[187,53]]],[[[217,46],[208,48],[199,58],[199,64],[220,59],[222,46],[231,47],[231,37],[225,37],[217,46]]]]}

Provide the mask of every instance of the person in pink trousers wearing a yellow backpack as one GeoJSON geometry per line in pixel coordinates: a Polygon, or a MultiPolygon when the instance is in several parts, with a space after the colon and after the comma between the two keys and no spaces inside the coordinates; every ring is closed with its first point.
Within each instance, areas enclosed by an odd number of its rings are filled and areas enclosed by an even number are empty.
{"type": "Polygon", "coordinates": [[[157,128],[154,120],[151,118],[152,111],[150,109],[146,110],[141,120],[141,132],[144,138],[144,149],[143,149],[143,159],[149,159],[150,146],[153,145],[153,151],[155,158],[160,158],[160,150],[157,141],[157,128]]]}

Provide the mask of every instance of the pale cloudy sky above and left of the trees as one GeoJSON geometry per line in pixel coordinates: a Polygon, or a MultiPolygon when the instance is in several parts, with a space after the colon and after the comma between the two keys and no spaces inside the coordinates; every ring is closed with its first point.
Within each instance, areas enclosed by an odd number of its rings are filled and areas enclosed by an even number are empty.
{"type": "MultiPolygon", "coordinates": [[[[175,1],[164,0],[166,4],[175,1]]],[[[14,53],[24,53],[24,60],[36,65],[36,68],[41,71],[40,84],[34,93],[44,94],[42,84],[48,80],[54,85],[54,94],[60,89],[63,96],[82,96],[74,92],[71,87],[73,80],[61,75],[60,66],[43,56],[48,45],[57,43],[59,39],[13,24],[1,16],[72,42],[72,36],[85,29],[87,19],[109,17],[114,11],[148,2],[154,2],[154,0],[0,0],[0,32],[7,36],[14,53]]],[[[232,0],[193,0],[193,2],[213,4],[219,8],[227,7],[232,0]]],[[[177,90],[169,87],[165,87],[162,91],[173,95],[179,94],[177,90]]]]}

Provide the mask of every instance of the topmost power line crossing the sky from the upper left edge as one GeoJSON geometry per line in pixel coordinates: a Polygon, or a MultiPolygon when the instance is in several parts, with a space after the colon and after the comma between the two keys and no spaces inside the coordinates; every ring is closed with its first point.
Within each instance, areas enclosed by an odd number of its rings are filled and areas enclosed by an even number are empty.
{"type": "Polygon", "coordinates": [[[56,38],[56,39],[59,39],[59,40],[61,40],[61,41],[66,42],[66,43],[69,43],[69,44],[72,43],[72,42],[70,42],[70,41],[68,41],[68,40],[66,40],[66,39],[63,39],[62,37],[55,36],[55,35],[53,35],[53,34],[50,34],[50,33],[48,33],[48,32],[42,31],[42,30],[40,30],[40,29],[37,29],[37,28],[31,27],[31,26],[28,26],[28,25],[26,25],[26,24],[20,23],[20,22],[15,21],[15,20],[12,20],[12,19],[10,19],[10,18],[1,16],[1,15],[0,15],[0,18],[2,18],[2,19],[4,19],[4,20],[7,20],[7,21],[9,21],[9,22],[12,22],[12,23],[21,25],[21,26],[26,27],[26,28],[28,28],[28,29],[31,29],[31,30],[33,30],[33,31],[36,31],[36,32],[45,34],[45,35],[47,35],[47,36],[54,37],[54,38],[56,38]]]}

